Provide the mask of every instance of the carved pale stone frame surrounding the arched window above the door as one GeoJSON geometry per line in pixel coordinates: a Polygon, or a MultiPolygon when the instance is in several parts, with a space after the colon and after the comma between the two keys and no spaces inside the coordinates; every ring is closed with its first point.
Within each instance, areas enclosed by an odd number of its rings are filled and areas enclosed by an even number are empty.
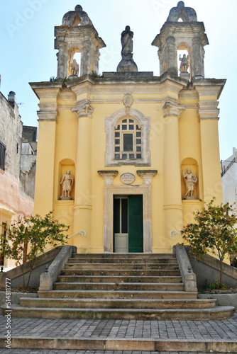
{"type": "Polygon", "coordinates": [[[145,117],[143,113],[133,108],[123,108],[116,111],[111,117],[106,117],[106,153],[105,166],[150,166],[149,132],[150,117],[145,117]],[[141,128],[141,159],[115,159],[115,128],[121,118],[130,118],[138,122],[141,128]]]}

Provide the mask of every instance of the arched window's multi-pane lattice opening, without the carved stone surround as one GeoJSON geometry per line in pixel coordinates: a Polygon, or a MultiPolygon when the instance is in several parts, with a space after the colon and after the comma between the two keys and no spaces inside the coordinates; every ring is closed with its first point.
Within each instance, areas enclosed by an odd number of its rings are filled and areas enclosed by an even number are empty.
{"type": "Polygon", "coordinates": [[[120,120],[114,130],[114,159],[141,159],[141,127],[135,119],[120,120]]]}

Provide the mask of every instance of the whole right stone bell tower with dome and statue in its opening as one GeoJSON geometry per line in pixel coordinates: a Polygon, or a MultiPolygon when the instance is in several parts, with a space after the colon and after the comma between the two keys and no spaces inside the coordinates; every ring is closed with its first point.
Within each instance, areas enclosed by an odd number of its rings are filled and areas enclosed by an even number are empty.
{"type": "Polygon", "coordinates": [[[177,7],[170,10],[160,34],[152,43],[159,48],[160,75],[165,72],[177,75],[177,50],[187,50],[188,59],[185,58],[187,65],[186,67],[183,65],[184,69],[180,67],[180,76],[184,79],[203,79],[204,46],[208,44],[204,23],[197,22],[196,11],[185,7],[184,2],[179,1],[177,7]]]}

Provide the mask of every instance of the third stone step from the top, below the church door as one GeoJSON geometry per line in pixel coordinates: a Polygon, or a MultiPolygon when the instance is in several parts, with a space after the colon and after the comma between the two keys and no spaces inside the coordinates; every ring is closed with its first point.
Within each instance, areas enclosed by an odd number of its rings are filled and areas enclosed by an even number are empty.
{"type": "Polygon", "coordinates": [[[144,269],[144,270],[165,270],[165,269],[179,269],[179,265],[177,263],[65,263],[65,269],[105,269],[109,268],[112,269],[144,269]]]}

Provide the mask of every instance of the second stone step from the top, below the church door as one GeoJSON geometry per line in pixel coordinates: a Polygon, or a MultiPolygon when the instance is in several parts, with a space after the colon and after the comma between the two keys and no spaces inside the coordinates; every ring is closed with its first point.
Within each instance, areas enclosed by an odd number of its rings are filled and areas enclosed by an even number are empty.
{"type": "MultiPolygon", "coordinates": [[[[129,253],[131,254],[131,253],[129,253]]],[[[115,258],[111,258],[111,257],[92,257],[89,258],[89,256],[87,257],[83,257],[83,258],[79,258],[79,257],[73,257],[73,258],[69,258],[68,259],[68,263],[177,263],[177,258],[140,258],[140,257],[136,257],[136,258],[128,258],[128,257],[115,257],[115,258]]]]}

